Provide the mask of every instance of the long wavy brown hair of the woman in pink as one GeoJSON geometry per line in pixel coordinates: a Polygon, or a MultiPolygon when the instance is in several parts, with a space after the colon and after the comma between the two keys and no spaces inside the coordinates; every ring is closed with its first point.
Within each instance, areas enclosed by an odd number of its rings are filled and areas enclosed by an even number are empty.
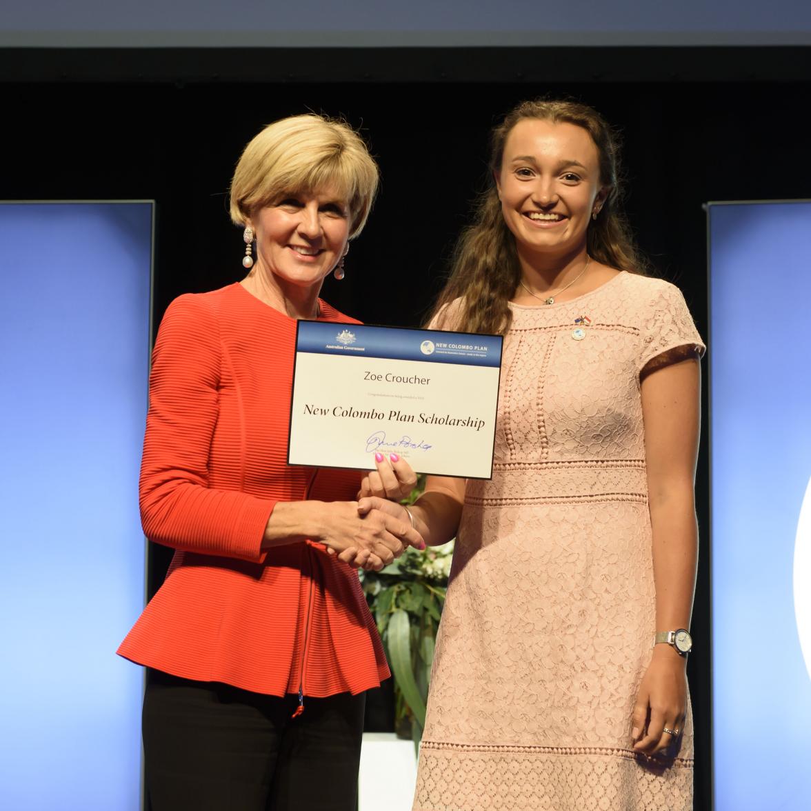
{"type": "Polygon", "coordinates": [[[634,242],[621,208],[619,135],[595,109],[577,101],[523,101],[492,131],[487,188],[475,203],[473,223],[459,236],[450,276],[431,312],[430,320],[436,318],[440,327],[504,334],[513,320],[507,303],[521,280],[521,266],[515,237],[501,213],[494,175],[500,172],[507,136],[524,118],[569,122],[591,135],[599,156],[600,183],[608,193],[599,217],[589,223],[586,250],[594,260],[611,268],[646,272],[647,261],[634,242]],[[448,307],[457,299],[456,305],[448,307]]]}

